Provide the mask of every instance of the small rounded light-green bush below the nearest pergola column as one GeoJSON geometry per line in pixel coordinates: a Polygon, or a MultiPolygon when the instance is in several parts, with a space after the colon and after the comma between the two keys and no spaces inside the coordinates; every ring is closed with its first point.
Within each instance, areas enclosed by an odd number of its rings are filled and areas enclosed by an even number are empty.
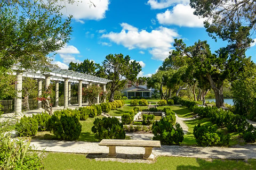
{"type": "Polygon", "coordinates": [[[33,117],[21,117],[19,123],[15,124],[15,130],[18,132],[19,137],[34,136],[38,129],[38,123],[33,117]]]}

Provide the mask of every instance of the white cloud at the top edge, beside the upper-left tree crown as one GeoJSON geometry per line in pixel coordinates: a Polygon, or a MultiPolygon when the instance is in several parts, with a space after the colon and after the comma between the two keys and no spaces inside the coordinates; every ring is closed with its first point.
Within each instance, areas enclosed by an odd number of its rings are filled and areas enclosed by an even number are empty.
{"type": "Polygon", "coordinates": [[[90,0],[83,0],[73,4],[60,3],[65,5],[62,9],[63,15],[73,15],[73,18],[83,23],[83,19],[101,20],[105,18],[105,13],[108,10],[109,0],[93,0],[95,7],[90,3],[90,0]]]}

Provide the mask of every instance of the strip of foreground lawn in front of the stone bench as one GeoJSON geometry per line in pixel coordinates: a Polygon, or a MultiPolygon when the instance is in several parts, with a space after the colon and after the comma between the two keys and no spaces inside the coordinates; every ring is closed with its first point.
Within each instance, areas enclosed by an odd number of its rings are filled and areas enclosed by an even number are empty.
{"type": "MultiPolygon", "coordinates": [[[[101,155],[98,155],[99,157],[101,155]]],[[[158,157],[155,163],[124,163],[97,161],[87,154],[48,153],[45,169],[256,169],[256,160],[198,159],[188,157],[158,157]]]]}

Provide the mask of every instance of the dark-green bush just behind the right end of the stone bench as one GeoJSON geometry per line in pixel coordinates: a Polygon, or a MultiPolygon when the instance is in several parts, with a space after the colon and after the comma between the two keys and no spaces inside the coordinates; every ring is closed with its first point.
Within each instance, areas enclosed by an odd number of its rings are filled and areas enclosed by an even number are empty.
{"type": "Polygon", "coordinates": [[[162,145],[179,145],[184,139],[184,133],[180,125],[176,124],[176,129],[173,125],[162,118],[159,122],[155,122],[152,126],[154,134],[153,140],[161,141],[162,145]]]}

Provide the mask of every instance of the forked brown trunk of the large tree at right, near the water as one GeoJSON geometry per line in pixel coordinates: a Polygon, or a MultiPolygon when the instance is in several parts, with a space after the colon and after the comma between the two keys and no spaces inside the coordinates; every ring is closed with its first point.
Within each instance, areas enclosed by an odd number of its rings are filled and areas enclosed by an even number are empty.
{"type": "Polygon", "coordinates": [[[215,82],[212,80],[212,77],[209,73],[206,74],[207,79],[209,80],[211,87],[215,94],[215,104],[216,107],[222,107],[225,106],[224,104],[224,96],[223,96],[223,81],[218,80],[217,86],[215,85],[215,82]]]}

